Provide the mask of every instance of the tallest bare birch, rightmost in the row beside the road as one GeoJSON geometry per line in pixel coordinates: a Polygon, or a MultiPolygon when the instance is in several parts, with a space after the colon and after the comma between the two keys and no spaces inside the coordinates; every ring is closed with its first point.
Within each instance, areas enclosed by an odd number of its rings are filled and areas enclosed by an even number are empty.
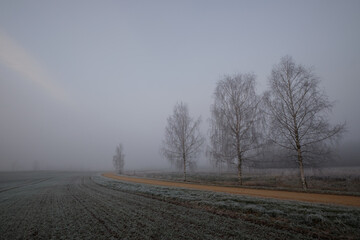
{"type": "Polygon", "coordinates": [[[275,65],[265,94],[270,116],[270,139],[296,159],[302,187],[307,189],[304,164],[329,153],[330,146],[344,131],[345,124],[330,126],[328,113],[333,104],[319,89],[311,69],[295,64],[290,56],[275,65]]]}

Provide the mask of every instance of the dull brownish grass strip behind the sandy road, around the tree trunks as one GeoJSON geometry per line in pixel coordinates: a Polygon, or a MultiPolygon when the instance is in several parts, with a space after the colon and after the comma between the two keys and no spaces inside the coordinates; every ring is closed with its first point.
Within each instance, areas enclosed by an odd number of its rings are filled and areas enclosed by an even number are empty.
{"type": "MultiPolygon", "coordinates": [[[[360,168],[319,168],[306,169],[310,192],[360,195],[360,168]]],[[[136,176],[182,181],[180,172],[138,171],[128,172],[136,176]]],[[[298,169],[245,169],[243,187],[284,189],[302,191],[298,169]]],[[[189,172],[187,180],[194,183],[237,186],[236,172],[189,172]]]]}

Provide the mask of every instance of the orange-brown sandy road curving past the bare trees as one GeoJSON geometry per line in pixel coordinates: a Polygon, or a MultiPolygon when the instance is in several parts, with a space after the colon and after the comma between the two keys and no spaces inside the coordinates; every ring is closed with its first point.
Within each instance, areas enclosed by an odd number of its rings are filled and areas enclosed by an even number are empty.
{"type": "Polygon", "coordinates": [[[146,179],[146,178],[119,176],[114,173],[104,173],[103,176],[113,179],[123,180],[123,181],[160,185],[160,186],[182,187],[182,188],[190,188],[190,189],[206,190],[206,191],[214,191],[214,192],[242,194],[242,195],[249,195],[255,197],[276,198],[283,200],[296,200],[303,202],[360,207],[360,197],[356,197],[356,196],[209,186],[209,185],[201,185],[201,184],[180,183],[180,182],[170,182],[170,181],[162,181],[162,180],[154,180],[154,179],[146,179]]]}

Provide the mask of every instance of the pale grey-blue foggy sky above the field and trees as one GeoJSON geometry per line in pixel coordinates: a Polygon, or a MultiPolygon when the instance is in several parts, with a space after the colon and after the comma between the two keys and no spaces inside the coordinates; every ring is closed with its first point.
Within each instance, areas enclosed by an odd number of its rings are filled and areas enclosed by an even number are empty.
{"type": "Polygon", "coordinates": [[[284,55],[360,146],[359,24],[360,1],[0,1],[0,170],[111,169],[119,143],[125,169],[168,168],[175,103],[206,134],[216,82],[253,72],[261,93],[284,55]]]}

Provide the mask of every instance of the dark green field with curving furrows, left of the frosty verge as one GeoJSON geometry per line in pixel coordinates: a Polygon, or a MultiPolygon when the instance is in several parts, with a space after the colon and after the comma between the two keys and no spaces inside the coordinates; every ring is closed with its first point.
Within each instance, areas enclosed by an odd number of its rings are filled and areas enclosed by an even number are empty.
{"type": "Polygon", "coordinates": [[[94,173],[1,174],[0,239],[309,238],[95,181],[102,178],[94,173]]]}

